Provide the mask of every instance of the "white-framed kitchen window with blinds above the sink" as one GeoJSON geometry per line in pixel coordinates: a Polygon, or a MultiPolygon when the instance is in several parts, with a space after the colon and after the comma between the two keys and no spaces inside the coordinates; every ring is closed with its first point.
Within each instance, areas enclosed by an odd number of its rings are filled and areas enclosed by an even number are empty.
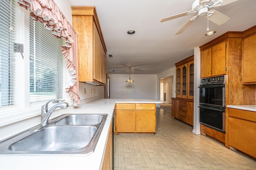
{"type": "Polygon", "coordinates": [[[0,126],[40,115],[50,99],[72,104],[64,92],[63,40],[34,22],[16,0],[2,0],[0,10],[0,126]],[[23,44],[22,54],[14,52],[15,43],[23,44]]]}

